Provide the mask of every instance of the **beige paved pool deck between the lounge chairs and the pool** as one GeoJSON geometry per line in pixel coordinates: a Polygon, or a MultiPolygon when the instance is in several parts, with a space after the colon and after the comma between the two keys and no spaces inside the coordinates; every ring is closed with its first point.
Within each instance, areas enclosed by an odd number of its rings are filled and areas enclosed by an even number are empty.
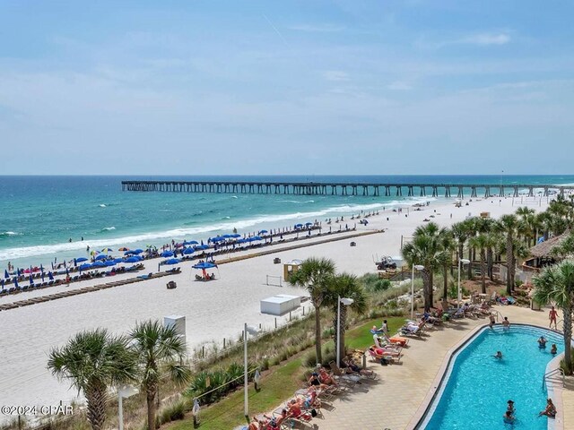
{"type": "MultiPolygon", "coordinates": [[[[510,323],[531,323],[543,327],[548,325],[548,311],[545,309],[532,311],[501,305],[495,306],[495,309],[508,316],[510,323]]],[[[397,365],[380,366],[368,360],[368,367],[379,375],[378,381],[362,383],[338,396],[333,401],[332,408],[326,405],[323,416],[314,419],[313,424],[321,430],[413,428],[418,421],[417,411],[430,390],[436,388],[434,384],[448,351],[456,347],[476,327],[485,323],[485,318],[465,318],[428,331],[422,339],[413,338],[409,342],[409,348],[404,349],[404,357],[397,365]]],[[[557,385],[559,386],[554,385],[554,389],[561,390],[561,384],[557,385]]],[[[563,423],[556,420],[557,430],[574,428],[573,386],[574,383],[567,382],[567,389],[561,390],[564,417],[563,423]]],[[[543,408],[544,405],[541,405],[541,409],[543,408]]]]}

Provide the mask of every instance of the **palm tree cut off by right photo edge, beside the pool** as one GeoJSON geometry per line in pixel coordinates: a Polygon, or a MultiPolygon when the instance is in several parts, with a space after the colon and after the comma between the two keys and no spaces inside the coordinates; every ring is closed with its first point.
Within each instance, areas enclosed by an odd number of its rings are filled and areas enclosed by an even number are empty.
{"type": "Polygon", "coordinates": [[[564,319],[564,362],[567,374],[572,374],[570,342],[572,338],[572,312],[574,312],[574,262],[565,260],[547,267],[534,278],[536,302],[553,302],[561,309],[564,319]]]}

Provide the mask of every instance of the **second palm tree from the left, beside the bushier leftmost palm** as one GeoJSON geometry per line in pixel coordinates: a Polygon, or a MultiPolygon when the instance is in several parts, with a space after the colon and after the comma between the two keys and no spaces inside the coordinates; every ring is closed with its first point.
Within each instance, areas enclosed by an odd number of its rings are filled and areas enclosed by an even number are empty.
{"type": "Polygon", "coordinates": [[[183,384],[191,375],[189,368],[182,365],[186,344],[175,326],[165,327],[159,321],[137,323],[129,336],[139,366],[139,383],[147,400],[147,428],[154,430],[157,405],[153,400],[161,378],[167,375],[174,383],[183,384]]]}

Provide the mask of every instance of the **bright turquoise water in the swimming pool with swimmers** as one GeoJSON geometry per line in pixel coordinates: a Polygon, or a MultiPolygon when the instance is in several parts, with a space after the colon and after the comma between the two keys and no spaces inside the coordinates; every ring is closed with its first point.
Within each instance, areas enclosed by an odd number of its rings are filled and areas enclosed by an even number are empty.
{"type": "Polygon", "coordinates": [[[538,412],[546,405],[542,381],[553,358],[552,343],[560,354],[563,340],[552,331],[519,325],[509,331],[481,331],[449,366],[448,381],[443,382],[447,385],[418,428],[545,430],[548,418],[538,417],[538,412]],[[542,335],[548,340],[545,349],[538,348],[542,335]],[[501,360],[492,357],[496,351],[502,352],[501,360]],[[508,400],[515,402],[513,425],[502,419],[508,400]]]}

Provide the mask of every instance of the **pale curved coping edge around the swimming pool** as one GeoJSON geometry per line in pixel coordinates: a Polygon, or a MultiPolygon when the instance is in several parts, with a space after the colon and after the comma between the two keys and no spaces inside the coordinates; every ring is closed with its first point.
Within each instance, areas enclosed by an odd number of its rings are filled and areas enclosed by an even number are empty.
{"type": "MultiPolygon", "coordinates": [[[[500,325],[500,324],[497,323],[496,325],[500,325]]],[[[533,324],[533,323],[513,323],[512,325],[529,326],[529,327],[535,327],[537,329],[552,331],[548,327],[544,327],[544,326],[541,326],[538,324],[533,324]]],[[[444,378],[448,372],[448,366],[450,366],[450,363],[451,363],[453,357],[455,357],[457,355],[457,352],[461,348],[465,347],[466,343],[468,343],[469,340],[472,340],[474,338],[474,336],[476,336],[480,331],[483,331],[487,327],[488,327],[488,324],[486,324],[486,323],[475,326],[473,330],[469,331],[452,348],[448,349],[447,354],[445,355],[444,359],[442,360],[442,364],[440,365],[439,370],[437,371],[437,375],[435,376],[434,380],[431,383],[431,388],[427,392],[427,395],[424,397],[424,400],[422,400],[421,405],[419,406],[419,408],[414,413],[414,415],[411,418],[411,420],[409,421],[408,425],[406,427],[404,427],[405,430],[416,430],[417,426],[422,424],[422,421],[424,420],[425,415],[427,414],[428,410],[431,408],[432,401],[435,399],[438,391],[440,390],[440,385],[443,382],[443,380],[444,380],[444,378]]],[[[561,334],[558,331],[554,331],[554,332],[561,334]]],[[[572,345],[574,346],[574,341],[572,342],[572,345]]],[[[564,353],[561,353],[559,356],[552,358],[552,360],[550,360],[548,365],[546,365],[546,372],[548,372],[549,370],[553,370],[554,368],[560,366],[560,361],[561,361],[561,358],[563,357],[563,355],[564,355],[564,353]]],[[[564,429],[564,412],[563,412],[561,390],[554,390],[553,387],[547,387],[547,390],[548,390],[549,397],[551,397],[551,394],[552,394],[552,396],[553,396],[552,400],[554,400],[554,404],[555,404],[556,409],[557,409],[556,418],[548,420],[547,429],[548,430],[563,430],[564,429]]]]}

